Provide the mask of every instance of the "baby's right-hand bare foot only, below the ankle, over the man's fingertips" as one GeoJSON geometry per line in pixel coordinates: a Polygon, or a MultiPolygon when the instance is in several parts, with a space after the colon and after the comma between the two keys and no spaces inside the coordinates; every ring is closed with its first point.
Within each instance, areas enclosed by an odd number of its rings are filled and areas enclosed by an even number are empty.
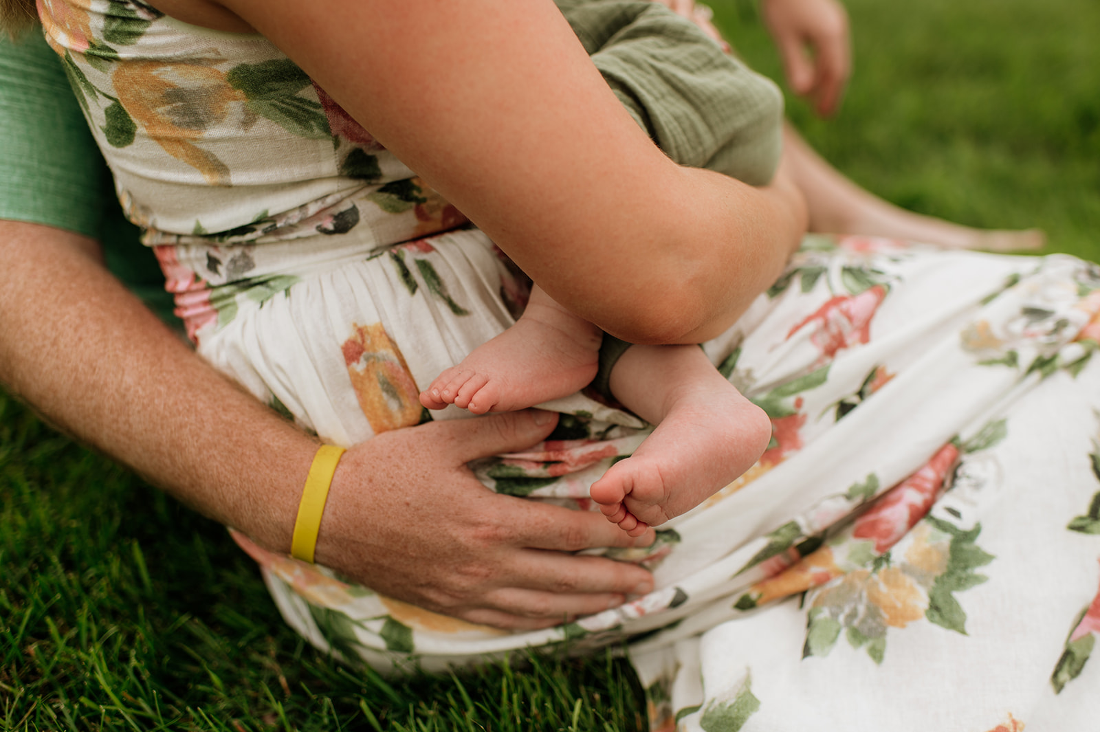
{"type": "MultiPolygon", "coordinates": [[[[721,377],[719,377],[721,378],[721,377]]],[[[630,457],[592,485],[592,499],[631,536],[695,508],[763,454],[771,422],[730,384],[683,387],[630,457]]]]}

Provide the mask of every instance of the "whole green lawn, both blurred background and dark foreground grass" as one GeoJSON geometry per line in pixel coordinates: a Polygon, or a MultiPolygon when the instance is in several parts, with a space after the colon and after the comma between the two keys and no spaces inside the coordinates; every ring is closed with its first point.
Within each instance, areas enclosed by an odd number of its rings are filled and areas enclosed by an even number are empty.
{"type": "MultiPolygon", "coordinates": [[[[842,112],[789,103],[811,142],[898,203],[1100,259],[1100,5],[847,5],[842,112]]],[[[755,0],[716,13],[778,74],[755,0]]],[[[389,683],[334,664],[220,526],[0,392],[0,729],[609,731],[641,709],[607,654],[389,683]]]]}

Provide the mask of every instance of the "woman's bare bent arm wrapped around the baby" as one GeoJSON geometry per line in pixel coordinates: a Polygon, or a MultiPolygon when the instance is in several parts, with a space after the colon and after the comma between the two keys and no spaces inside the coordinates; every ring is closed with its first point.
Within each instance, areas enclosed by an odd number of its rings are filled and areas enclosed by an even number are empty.
{"type": "Polygon", "coordinates": [[[550,0],[222,4],[551,297],[615,335],[721,332],[799,237],[804,214],[789,191],[666,157],[550,0]]]}

